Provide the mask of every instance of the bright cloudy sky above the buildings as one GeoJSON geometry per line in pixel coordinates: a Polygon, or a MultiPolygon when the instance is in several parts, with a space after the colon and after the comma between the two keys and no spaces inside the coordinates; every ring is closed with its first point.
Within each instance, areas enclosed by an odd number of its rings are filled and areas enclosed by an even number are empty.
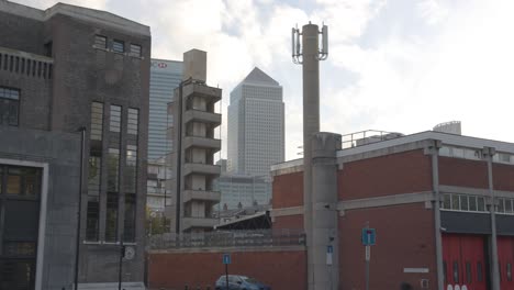
{"type": "MultiPolygon", "coordinates": [[[[46,9],[58,1],[16,0],[46,9]]],[[[462,134],[514,142],[511,0],[63,0],[150,26],[152,57],[208,52],[208,85],[230,92],[257,66],[283,87],[286,158],[302,141],[302,68],[291,27],[328,26],[321,131],[412,134],[461,121],[462,134]]]]}

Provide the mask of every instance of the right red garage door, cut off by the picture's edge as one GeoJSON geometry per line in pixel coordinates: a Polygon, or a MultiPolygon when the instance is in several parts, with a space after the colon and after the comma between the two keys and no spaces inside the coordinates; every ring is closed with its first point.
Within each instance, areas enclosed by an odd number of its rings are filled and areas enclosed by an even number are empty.
{"type": "Polygon", "coordinates": [[[502,290],[513,290],[512,266],[514,263],[514,237],[498,237],[498,261],[500,268],[500,286],[502,290]]]}

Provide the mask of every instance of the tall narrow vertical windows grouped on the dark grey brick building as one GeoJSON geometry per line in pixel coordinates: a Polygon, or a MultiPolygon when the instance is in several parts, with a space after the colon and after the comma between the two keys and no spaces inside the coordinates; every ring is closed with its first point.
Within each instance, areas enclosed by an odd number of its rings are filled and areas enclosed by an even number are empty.
{"type": "MultiPolygon", "coordinates": [[[[120,199],[124,194],[124,225],[123,241],[135,242],[136,219],[136,183],[137,183],[137,145],[127,144],[121,149],[122,132],[121,105],[110,105],[109,148],[105,158],[107,167],[107,203],[105,203],[105,242],[118,242],[118,221],[120,216],[120,199]],[[120,156],[125,154],[125,165],[121,168],[120,156]],[[120,174],[123,174],[123,188],[120,186],[120,174]]],[[[138,110],[127,109],[127,135],[137,135],[138,110]]],[[[91,104],[91,149],[89,157],[88,207],[86,223],[86,241],[98,242],[100,228],[100,194],[102,152],[101,146],[94,146],[93,141],[102,141],[103,134],[103,103],[91,104]]]]}

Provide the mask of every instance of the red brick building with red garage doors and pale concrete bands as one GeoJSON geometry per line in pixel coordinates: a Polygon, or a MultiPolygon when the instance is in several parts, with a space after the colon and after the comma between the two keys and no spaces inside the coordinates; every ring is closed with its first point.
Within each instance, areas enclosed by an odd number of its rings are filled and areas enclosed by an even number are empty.
{"type": "MultiPolygon", "coordinates": [[[[337,212],[338,289],[365,289],[367,225],[370,289],[514,289],[514,144],[432,131],[366,143],[343,143],[337,202],[314,205],[337,212]]],[[[302,160],[271,169],[273,228],[301,228],[302,160]]]]}

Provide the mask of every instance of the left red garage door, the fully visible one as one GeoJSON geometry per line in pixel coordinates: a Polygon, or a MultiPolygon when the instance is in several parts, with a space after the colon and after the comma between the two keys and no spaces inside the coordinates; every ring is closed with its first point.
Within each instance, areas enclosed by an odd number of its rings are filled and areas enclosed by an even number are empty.
{"type": "Polygon", "coordinates": [[[447,289],[487,289],[483,236],[443,235],[443,263],[447,289]]]}

